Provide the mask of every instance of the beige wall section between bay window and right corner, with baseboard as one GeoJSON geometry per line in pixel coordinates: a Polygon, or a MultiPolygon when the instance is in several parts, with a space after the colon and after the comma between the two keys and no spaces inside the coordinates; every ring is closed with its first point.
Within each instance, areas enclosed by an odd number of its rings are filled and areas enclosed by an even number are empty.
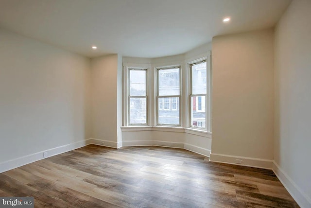
{"type": "Polygon", "coordinates": [[[211,160],[272,168],[273,39],[272,29],[213,38],[211,160]]]}

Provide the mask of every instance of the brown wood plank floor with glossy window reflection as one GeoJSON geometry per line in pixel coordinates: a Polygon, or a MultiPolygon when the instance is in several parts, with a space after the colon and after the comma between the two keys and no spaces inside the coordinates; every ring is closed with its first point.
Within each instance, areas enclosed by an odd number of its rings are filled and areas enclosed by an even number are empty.
{"type": "Polygon", "coordinates": [[[298,207],[270,170],[182,149],[88,145],[0,174],[0,196],[35,207],[298,207]]]}

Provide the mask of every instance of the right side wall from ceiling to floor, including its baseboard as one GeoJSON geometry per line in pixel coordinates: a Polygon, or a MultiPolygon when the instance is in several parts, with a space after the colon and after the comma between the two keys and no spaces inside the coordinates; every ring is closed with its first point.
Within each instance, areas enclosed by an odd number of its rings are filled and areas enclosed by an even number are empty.
{"type": "Polygon", "coordinates": [[[277,174],[301,207],[311,207],[311,1],[294,0],[276,27],[277,174]],[[278,167],[277,167],[278,166],[278,167]]]}

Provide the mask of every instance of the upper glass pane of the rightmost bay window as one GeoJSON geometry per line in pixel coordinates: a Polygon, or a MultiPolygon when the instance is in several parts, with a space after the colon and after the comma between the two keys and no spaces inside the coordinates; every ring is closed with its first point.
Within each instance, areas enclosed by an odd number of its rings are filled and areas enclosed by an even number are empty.
{"type": "Polygon", "coordinates": [[[206,62],[192,65],[192,94],[206,94],[206,62]]]}

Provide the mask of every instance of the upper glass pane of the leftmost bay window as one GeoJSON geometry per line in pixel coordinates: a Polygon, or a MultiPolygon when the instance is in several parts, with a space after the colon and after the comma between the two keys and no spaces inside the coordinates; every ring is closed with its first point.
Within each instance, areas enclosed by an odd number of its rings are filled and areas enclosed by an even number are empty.
{"type": "Polygon", "coordinates": [[[130,95],[146,95],[146,70],[130,70],[130,95]]]}

